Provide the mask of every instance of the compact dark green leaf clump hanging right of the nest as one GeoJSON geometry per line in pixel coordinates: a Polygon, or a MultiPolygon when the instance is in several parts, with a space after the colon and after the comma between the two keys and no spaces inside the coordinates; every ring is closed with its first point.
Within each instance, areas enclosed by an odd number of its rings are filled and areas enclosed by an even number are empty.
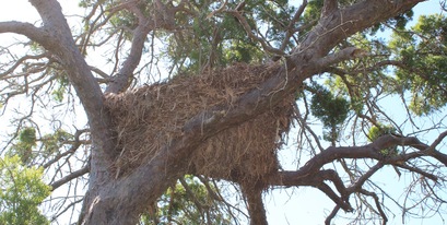
{"type": "Polygon", "coordinates": [[[329,132],[325,134],[325,140],[334,142],[339,137],[340,125],[348,117],[350,103],[341,96],[334,96],[320,85],[315,85],[315,90],[310,102],[310,111],[322,121],[326,129],[329,129],[329,132]]]}

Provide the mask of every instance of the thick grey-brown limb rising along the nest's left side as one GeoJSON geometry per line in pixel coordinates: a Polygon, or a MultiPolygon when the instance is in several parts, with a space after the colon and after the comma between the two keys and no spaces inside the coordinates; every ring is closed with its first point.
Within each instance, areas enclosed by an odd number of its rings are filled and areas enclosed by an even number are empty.
{"type": "MultiPolygon", "coordinates": [[[[102,162],[101,164],[104,164],[102,168],[106,169],[106,165],[109,164],[106,161],[111,161],[116,152],[114,152],[114,142],[107,140],[108,137],[113,137],[109,128],[111,122],[107,111],[103,110],[104,99],[99,85],[73,40],[59,2],[56,0],[30,0],[30,2],[40,14],[44,22],[43,29],[49,33],[47,38],[39,44],[54,54],[66,69],[87,115],[94,145],[101,150],[94,151],[92,157],[98,159],[94,162],[102,162]]],[[[92,165],[95,167],[95,163],[92,165]]],[[[102,174],[107,173],[103,170],[102,174]]],[[[92,176],[96,177],[96,173],[93,173],[92,176]]]]}

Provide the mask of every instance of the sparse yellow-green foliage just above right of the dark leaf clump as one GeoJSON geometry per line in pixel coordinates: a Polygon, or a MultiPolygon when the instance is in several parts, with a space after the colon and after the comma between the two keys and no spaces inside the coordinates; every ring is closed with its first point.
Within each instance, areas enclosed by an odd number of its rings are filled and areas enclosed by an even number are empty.
{"type": "MultiPolygon", "coordinates": [[[[355,46],[368,52],[372,57],[346,60],[337,64],[337,74],[329,78],[325,85],[332,93],[349,96],[351,109],[362,115],[369,100],[375,100],[378,94],[396,92],[398,84],[387,67],[377,67],[389,60],[391,51],[381,39],[372,39],[365,34],[355,34],[336,48],[336,51],[348,46],[355,46]],[[345,72],[345,73],[343,73],[345,72]]],[[[398,88],[400,90],[400,88],[398,88]]]]}

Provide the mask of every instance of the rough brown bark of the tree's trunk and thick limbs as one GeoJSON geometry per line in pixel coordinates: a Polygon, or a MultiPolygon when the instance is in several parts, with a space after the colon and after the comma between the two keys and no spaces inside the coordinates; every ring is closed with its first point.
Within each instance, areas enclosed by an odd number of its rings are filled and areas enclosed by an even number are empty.
{"type": "MultiPolygon", "coordinates": [[[[170,145],[164,146],[161,154],[156,155],[150,163],[143,164],[129,176],[119,179],[114,179],[107,170],[117,153],[114,149],[115,141],[111,138],[114,135],[110,133],[111,129],[109,129],[110,118],[107,111],[103,110],[103,93],[73,42],[59,3],[56,0],[30,1],[42,16],[43,27],[19,22],[7,22],[0,23],[0,32],[13,32],[30,37],[52,52],[59,63],[66,68],[87,114],[93,135],[90,191],[85,199],[86,212],[83,223],[121,225],[137,224],[138,215],[143,212],[149,203],[156,201],[173,182],[185,175],[188,158],[192,155],[191,152],[203,140],[268,110],[271,105],[278,104],[284,96],[299,88],[305,79],[326,71],[330,64],[355,57],[356,49],[351,48],[329,56],[328,52],[350,35],[409,10],[421,0],[367,0],[345,9],[338,9],[337,1],[325,1],[326,10],[318,25],[291,56],[285,57],[285,69],[281,69],[274,78],[267,80],[259,88],[243,95],[237,105],[232,107],[220,106],[191,118],[184,126],[183,137],[174,140],[170,145]],[[222,110],[227,111],[225,117],[219,116],[217,112],[222,110]]],[[[158,4],[163,5],[161,2],[158,4]]],[[[175,13],[174,8],[165,9],[165,11],[175,13]]],[[[162,24],[160,20],[162,19],[158,19],[158,23],[154,24],[162,24]]],[[[166,26],[168,25],[169,23],[166,22],[166,26]]],[[[133,58],[125,63],[121,70],[123,74],[116,76],[116,82],[110,84],[107,88],[108,92],[119,92],[129,82],[128,79],[140,60],[145,35],[151,28],[154,27],[149,25],[136,29],[134,38],[138,42],[134,42],[134,46],[132,46],[132,51],[136,51],[136,54],[132,54],[131,57],[133,58]]],[[[392,137],[388,137],[388,139],[391,140],[387,140],[387,144],[396,144],[397,141],[401,144],[400,141],[408,141],[410,145],[425,147],[425,145],[414,140],[393,141],[395,138],[392,137]]],[[[380,144],[381,141],[384,140],[378,140],[374,144],[380,144]]],[[[379,158],[380,155],[377,151],[374,151],[377,150],[374,144],[355,151],[352,147],[349,150],[330,147],[297,171],[279,171],[279,176],[272,177],[270,183],[267,185],[314,186],[327,193],[342,209],[350,211],[352,209],[345,197],[358,186],[345,189],[342,183],[340,185],[340,180],[337,176],[333,176],[332,171],[319,169],[324,164],[336,158],[379,158]],[[355,152],[355,154],[352,154],[352,152],[355,152]],[[337,186],[340,196],[325,186],[324,179],[330,179],[337,186]]],[[[439,161],[446,162],[445,155],[438,152],[431,154],[439,158],[439,161]]],[[[395,158],[395,161],[398,159],[395,158]]],[[[389,161],[392,161],[392,158],[389,161]]],[[[267,224],[261,189],[246,191],[246,197],[249,214],[252,217],[251,224],[267,224]]]]}

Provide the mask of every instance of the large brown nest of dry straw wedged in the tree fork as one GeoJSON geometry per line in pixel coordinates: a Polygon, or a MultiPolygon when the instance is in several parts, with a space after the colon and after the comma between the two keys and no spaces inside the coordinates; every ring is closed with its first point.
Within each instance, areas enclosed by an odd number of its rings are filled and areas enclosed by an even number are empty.
{"type": "MultiPolygon", "coordinates": [[[[179,137],[186,121],[217,105],[233,106],[259,88],[279,66],[235,64],[201,75],[180,75],[167,83],[107,95],[121,151],[116,169],[123,175],[148,162],[179,137]]],[[[293,96],[280,105],[204,141],[192,154],[190,171],[238,182],[262,181],[279,169],[280,137],[289,131],[293,96]]]]}

